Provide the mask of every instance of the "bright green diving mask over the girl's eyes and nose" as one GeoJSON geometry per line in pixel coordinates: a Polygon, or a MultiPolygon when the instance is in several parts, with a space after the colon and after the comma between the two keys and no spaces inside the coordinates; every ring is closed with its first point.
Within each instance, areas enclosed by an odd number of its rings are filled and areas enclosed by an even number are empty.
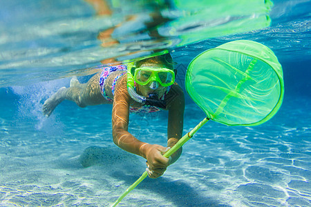
{"type": "Polygon", "coordinates": [[[167,68],[141,67],[135,68],[134,80],[136,83],[145,86],[151,81],[157,81],[161,86],[173,85],[175,73],[167,68]]]}

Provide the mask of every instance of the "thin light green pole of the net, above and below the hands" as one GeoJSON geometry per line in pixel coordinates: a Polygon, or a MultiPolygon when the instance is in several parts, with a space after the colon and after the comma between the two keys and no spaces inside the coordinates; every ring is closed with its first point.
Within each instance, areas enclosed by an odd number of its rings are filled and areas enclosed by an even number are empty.
{"type": "MultiPolygon", "coordinates": [[[[184,137],[182,137],[170,150],[168,150],[163,156],[169,158],[169,156],[171,156],[174,152],[176,152],[181,146],[183,146],[189,139],[191,139],[194,134],[203,126],[207,123],[207,121],[209,121],[209,118],[205,118],[203,119],[195,128],[193,128],[190,132],[188,132],[184,137]]],[[[146,177],[147,177],[148,173],[147,171],[144,171],[144,173],[142,173],[142,176],[140,176],[140,178],[135,181],[135,183],[133,183],[131,186],[129,186],[129,188],[127,188],[124,193],[122,195],[120,195],[120,197],[111,205],[111,207],[113,206],[117,206],[117,204],[120,203],[120,201],[122,201],[122,199],[131,192],[131,190],[133,190],[136,186],[138,186],[138,184],[140,184],[141,181],[143,181],[146,177]]]]}

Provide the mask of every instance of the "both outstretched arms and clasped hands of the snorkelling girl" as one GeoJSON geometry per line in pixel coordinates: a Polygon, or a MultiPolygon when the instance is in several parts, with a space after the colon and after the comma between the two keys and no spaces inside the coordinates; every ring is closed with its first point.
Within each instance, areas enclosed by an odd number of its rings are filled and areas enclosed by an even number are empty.
{"type": "MultiPolygon", "coordinates": [[[[181,90],[181,89],[180,89],[181,90]]],[[[178,91],[180,92],[180,91],[178,91]]],[[[182,92],[182,90],[181,90],[182,92]]],[[[183,101],[183,93],[182,99],[177,98],[173,99],[175,101],[180,100],[181,106],[185,107],[185,103],[183,101]]],[[[126,77],[120,78],[120,81],[117,81],[115,86],[115,95],[113,99],[113,112],[112,112],[112,124],[113,124],[113,142],[128,152],[131,152],[135,155],[140,155],[147,159],[147,171],[148,175],[151,178],[157,178],[161,176],[164,171],[169,166],[170,161],[166,157],[163,157],[164,152],[167,151],[167,148],[164,146],[160,146],[158,144],[147,144],[136,139],[133,135],[128,132],[129,127],[129,106],[132,99],[129,97],[126,88],[126,77]]],[[[182,113],[181,117],[183,117],[183,108],[175,110],[173,108],[179,107],[180,104],[171,103],[169,106],[169,128],[168,135],[171,138],[168,140],[169,146],[173,146],[177,139],[180,139],[182,135],[182,122],[183,119],[180,119],[180,115],[178,113],[182,113]],[[170,123],[171,121],[179,120],[180,124],[170,123]],[[171,121],[170,121],[171,120],[171,121]]],[[[172,157],[172,161],[176,161],[180,156],[181,149],[175,152],[172,157]]]]}

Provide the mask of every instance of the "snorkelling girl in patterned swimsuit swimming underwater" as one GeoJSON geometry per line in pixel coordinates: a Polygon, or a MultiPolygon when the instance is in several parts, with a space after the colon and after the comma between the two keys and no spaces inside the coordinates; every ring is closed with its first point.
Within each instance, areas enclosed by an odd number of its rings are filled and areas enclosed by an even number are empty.
{"type": "Polygon", "coordinates": [[[113,142],[128,152],[147,159],[149,177],[163,175],[169,164],[182,152],[180,148],[169,159],[162,155],[182,137],[185,97],[174,82],[176,70],[169,53],[135,61],[127,65],[102,68],[87,83],[70,80],[69,88],[60,88],[44,102],[44,115],[49,116],[65,99],[77,106],[113,104],[113,142]],[[140,141],[128,132],[130,112],[169,110],[167,147],[140,141]]]}

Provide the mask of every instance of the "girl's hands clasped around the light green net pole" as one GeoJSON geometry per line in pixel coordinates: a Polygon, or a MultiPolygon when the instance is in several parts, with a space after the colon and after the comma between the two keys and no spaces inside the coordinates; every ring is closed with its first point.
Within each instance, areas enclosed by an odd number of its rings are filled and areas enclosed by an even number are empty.
{"type": "MultiPolygon", "coordinates": [[[[147,172],[150,178],[157,178],[163,175],[167,166],[170,164],[170,159],[163,157],[164,153],[170,148],[165,148],[158,144],[147,144],[145,155],[146,155],[146,165],[147,172]]],[[[170,157],[171,158],[171,157],[170,157]]]]}

